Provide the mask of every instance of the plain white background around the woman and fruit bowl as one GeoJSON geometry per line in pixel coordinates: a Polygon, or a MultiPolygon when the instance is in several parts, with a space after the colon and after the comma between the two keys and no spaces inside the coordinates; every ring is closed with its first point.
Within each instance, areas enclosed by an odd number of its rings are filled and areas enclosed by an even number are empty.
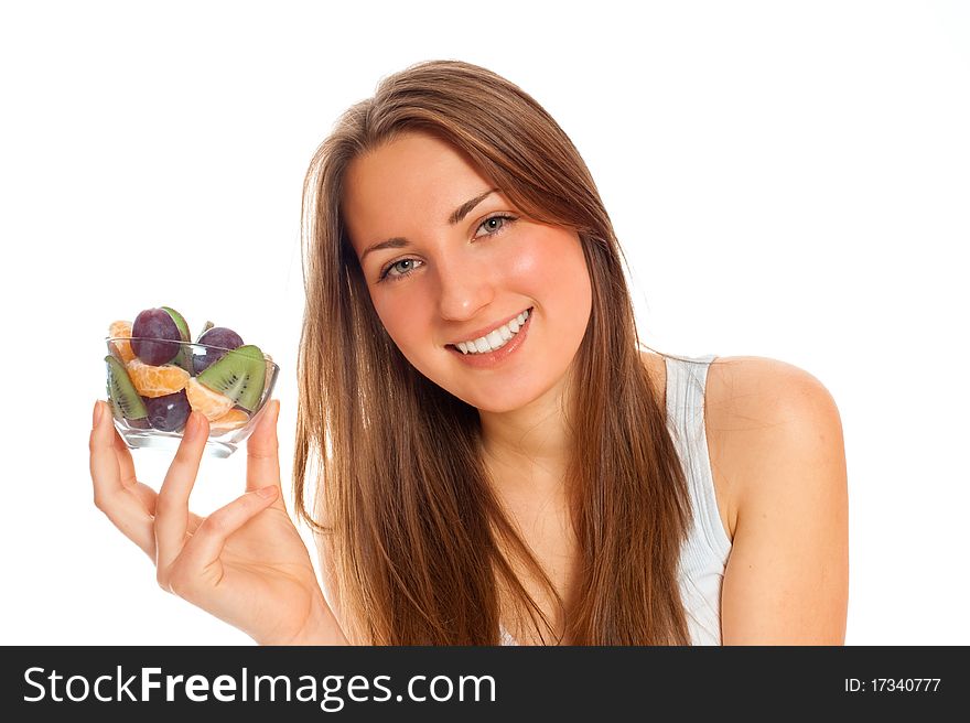
{"type": "MultiPolygon", "coordinates": [[[[651,347],[782,359],[833,395],[847,643],[970,644],[967,3],[10,4],[0,643],[251,643],[162,593],[91,504],[101,339],[164,304],[272,354],[289,493],[306,164],[380,77],[459,58],[575,142],[651,347]]],[[[158,486],[170,455],[134,456],[158,486]]],[[[194,508],[244,471],[206,460],[194,508]]]]}

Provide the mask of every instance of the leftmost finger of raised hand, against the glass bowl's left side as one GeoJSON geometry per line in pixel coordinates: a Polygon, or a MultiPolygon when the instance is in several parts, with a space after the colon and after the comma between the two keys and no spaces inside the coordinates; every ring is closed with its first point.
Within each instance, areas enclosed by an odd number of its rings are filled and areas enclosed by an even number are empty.
{"type": "Polygon", "coordinates": [[[114,445],[116,434],[111,410],[103,401],[95,402],[95,421],[90,433],[90,475],[95,506],[125,537],[154,560],[153,521],[149,509],[121,483],[121,465],[114,445]]]}

